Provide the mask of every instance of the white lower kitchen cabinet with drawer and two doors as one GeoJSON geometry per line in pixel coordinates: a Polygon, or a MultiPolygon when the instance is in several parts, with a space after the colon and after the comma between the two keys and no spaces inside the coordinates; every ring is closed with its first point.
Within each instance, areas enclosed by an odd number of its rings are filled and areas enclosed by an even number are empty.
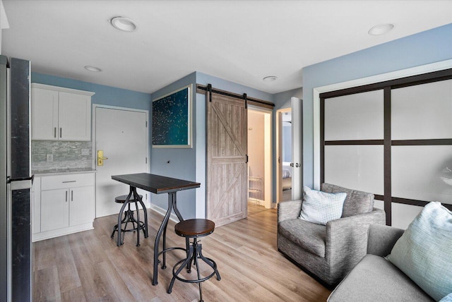
{"type": "Polygon", "coordinates": [[[33,241],[93,229],[94,182],[93,173],[41,176],[40,232],[33,241]]]}

